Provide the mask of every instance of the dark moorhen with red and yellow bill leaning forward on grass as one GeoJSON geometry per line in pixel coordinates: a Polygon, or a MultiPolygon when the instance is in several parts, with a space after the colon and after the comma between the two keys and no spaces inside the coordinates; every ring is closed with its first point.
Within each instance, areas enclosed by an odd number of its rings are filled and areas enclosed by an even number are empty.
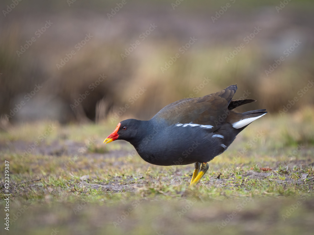
{"type": "Polygon", "coordinates": [[[104,143],[126,140],[143,160],[154,165],[194,163],[190,185],[196,185],[208,170],[207,162],[223,153],[238,133],[267,113],[266,109],[234,112],[232,109],[256,101],[232,100],[236,90],[237,85],[231,85],[207,96],[178,100],[148,121],[124,120],[104,143]]]}

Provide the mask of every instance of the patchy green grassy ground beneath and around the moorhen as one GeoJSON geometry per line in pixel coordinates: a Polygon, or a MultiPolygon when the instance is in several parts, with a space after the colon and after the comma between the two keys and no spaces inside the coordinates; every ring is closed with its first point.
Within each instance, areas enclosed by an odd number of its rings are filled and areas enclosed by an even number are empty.
{"type": "Polygon", "coordinates": [[[150,165],[127,142],[102,144],[116,123],[9,127],[0,133],[0,198],[6,160],[10,233],[312,234],[313,117],[306,108],[255,121],[196,188],[193,165],[150,165]]]}

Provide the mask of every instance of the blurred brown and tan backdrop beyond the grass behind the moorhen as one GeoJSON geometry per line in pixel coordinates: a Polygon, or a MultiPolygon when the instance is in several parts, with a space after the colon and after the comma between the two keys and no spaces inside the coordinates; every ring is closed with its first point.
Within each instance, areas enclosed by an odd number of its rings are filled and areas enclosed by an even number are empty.
{"type": "Polygon", "coordinates": [[[234,98],[258,101],[245,110],[311,107],[313,9],[289,0],[2,1],[2,127],[149,119],[235,83],[234,98]]]}

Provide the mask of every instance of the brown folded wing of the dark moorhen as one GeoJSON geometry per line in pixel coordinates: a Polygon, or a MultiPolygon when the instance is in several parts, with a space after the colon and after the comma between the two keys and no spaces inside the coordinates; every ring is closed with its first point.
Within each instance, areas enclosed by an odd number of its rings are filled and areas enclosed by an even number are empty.
{"type": "Polygon", "coordinates": [[[207,96],[178,100],[162,108],[153,118],[169,126],[176,123],[211,125],[214,131],[225,122],[236,90],[237,86],[231,85],[207,96]]]}

